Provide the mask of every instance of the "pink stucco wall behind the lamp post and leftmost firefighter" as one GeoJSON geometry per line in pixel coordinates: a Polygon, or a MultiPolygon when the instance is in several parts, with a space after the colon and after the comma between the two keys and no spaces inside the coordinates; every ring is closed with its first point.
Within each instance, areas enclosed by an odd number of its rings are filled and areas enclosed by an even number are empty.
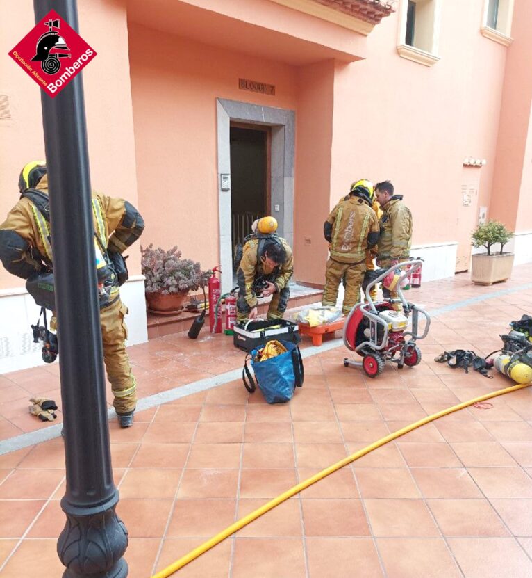
{"type": "MultiPolygon", "coordinates": [[[[0,127],[1,221],[19,198],[20,170],[44,158],[44,142],[40,88],[6,56],[35,25],[33,4],[1,0],[0,8],[0,92],[11,114],[0,127]]],[[[98,53],[83,72],[92,187],[138,204],[125,1],[80,0],[78,10],[80,33],[98,53]]],[[[138,246],[128,253],[130,274],[140,273],[138,246]]],[[[23,284],[0,267],[0,289],[23,284]]]]}

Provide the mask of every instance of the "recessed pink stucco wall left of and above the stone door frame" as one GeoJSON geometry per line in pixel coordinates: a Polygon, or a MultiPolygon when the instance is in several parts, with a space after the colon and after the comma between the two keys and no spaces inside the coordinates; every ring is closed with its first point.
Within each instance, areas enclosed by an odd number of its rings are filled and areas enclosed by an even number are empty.
{"type": "Polygon", "coordinates": [[[210,268],[219,261],[216,99],[295,109],[288,65],[157,33],[131,23],[129,45],[143,246],[177,245],[210,268]],[[274,84],[274,96],[239,90],[238,79],[274,84]]]}

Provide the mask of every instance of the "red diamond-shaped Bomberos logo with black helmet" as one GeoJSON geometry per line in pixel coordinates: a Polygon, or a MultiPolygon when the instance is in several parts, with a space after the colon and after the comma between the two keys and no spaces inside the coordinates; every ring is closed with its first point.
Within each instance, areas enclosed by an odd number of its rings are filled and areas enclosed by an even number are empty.
{"type": "Polygon", "coordinates": [[[83,38],[51,10],[9,56],[52,98],[96,56],[83,38]]]}

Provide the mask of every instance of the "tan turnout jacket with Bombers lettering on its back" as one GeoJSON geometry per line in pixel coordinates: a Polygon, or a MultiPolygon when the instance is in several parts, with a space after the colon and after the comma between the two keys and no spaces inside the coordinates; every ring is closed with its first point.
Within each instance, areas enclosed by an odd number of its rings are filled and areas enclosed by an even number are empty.
{"type": "Polygon", "coordinates": [[[366,250],[379,239],[379,221],[367,202],[350,195],[327,217],[324,237],[331,243],[331,259],[340,263],[361,263],[365,261],[366,250]]]}

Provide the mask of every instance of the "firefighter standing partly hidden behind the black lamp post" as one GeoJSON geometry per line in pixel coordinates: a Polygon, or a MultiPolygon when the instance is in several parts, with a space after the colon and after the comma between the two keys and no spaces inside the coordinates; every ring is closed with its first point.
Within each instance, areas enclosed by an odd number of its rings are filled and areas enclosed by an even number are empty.
{"type": "MultiPolygon", "coordinates": [[[[22,279],[33,281],[46,275],[47,287],[53,291],[48,177],[44,161],[33,161],[22,169],[19,189],[19,202],[0,225],[0,260],[9,273],[22,279]]],[[[144,221],[128,201],[101,193],[92,196],[92,213],[95,239],[102,248],[109,272],[101,291],[104,298],[100,299],[103,359],[119,424],[127,428],[133,425],[137,385],[126,353],[124,317],[128,310],[120,300],[119,284],[127,278],[122,252],[142,234],[144,221]]],[[[53,295],[51,303],[54,303],[53,295]]],[[[60,335],[60,328],[58,333],[60,335]]]]}

